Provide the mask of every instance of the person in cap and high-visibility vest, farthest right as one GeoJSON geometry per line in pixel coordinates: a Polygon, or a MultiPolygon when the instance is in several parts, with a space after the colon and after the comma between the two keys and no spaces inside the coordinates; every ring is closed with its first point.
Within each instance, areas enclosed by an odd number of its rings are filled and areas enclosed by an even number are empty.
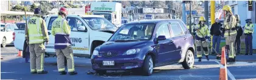
{"type": "Polygon", "coordinates": [[[245,45],[246,52],[245,55],[252,55],[252,33],[254,33],[254,25],[252,24],[251,19],[246,19],[246,25],[244,27],[245,45]]]}

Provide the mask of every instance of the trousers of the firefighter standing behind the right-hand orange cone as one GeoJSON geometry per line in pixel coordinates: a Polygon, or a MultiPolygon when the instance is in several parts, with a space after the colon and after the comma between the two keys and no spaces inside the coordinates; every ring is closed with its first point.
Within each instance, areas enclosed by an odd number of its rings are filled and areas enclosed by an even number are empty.
{"type": "Polygon", "coordinates": [[[229,35],[226,37],[226,49],[229,53],[229,58],[234,58],[235,54],[235,38],[237,34],[229,35]]]}

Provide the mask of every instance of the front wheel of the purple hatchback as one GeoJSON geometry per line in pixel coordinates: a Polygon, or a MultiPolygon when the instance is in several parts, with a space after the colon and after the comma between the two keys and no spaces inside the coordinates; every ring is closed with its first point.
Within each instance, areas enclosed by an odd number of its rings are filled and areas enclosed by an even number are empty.
{"type": "Polygon", "coordinates": [[[153,73],[153,59],[150,55],[147,55],[144,59],[144,64],[142,66],[142,75],[150,76],[153,73]]]}

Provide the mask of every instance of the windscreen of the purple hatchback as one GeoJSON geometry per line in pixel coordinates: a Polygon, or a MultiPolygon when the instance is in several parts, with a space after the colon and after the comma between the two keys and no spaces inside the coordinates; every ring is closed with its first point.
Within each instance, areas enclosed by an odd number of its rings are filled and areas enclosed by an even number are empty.
{"type": "Polygon", "coordinates": [[[153,34],[155,24],[129,24],[120,27],[109,41],[148,40],[153,34]]]}

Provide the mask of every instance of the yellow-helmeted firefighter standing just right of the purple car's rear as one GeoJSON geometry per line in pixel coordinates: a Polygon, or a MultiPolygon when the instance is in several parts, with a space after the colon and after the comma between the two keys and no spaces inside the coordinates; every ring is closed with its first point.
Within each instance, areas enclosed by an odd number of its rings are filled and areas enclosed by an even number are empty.
{"type": "Polygon", "coordinates": [[[209,47],[208,47],[208,42],[210,38],[210,32],[208,29],[208,26],[204,24],[206,22],[206,19],[201,16],[199,18],[199,24],[195,26],[194,32],[196,32],[196,55],[198,58],[198,61],[201,61],[202,58],[202,50],[204,50],[204,55],[206,55],[207,61],[209,61],[209,47]]]}

